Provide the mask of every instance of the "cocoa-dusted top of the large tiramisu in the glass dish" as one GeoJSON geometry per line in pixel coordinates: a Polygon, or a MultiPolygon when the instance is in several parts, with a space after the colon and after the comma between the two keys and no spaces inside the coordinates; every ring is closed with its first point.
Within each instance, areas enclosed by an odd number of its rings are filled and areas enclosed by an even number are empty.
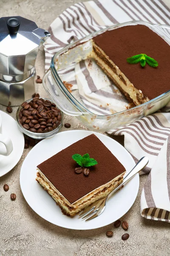
{"type": "Polygon", "coordinates": [[[122,73],[149,99],[170,90],[170,45],[144,25],[124,26],[93,38],[122,73]],[[145,53],[158,61],[158,67],[128,64],[126,59],[145,53]]]}

